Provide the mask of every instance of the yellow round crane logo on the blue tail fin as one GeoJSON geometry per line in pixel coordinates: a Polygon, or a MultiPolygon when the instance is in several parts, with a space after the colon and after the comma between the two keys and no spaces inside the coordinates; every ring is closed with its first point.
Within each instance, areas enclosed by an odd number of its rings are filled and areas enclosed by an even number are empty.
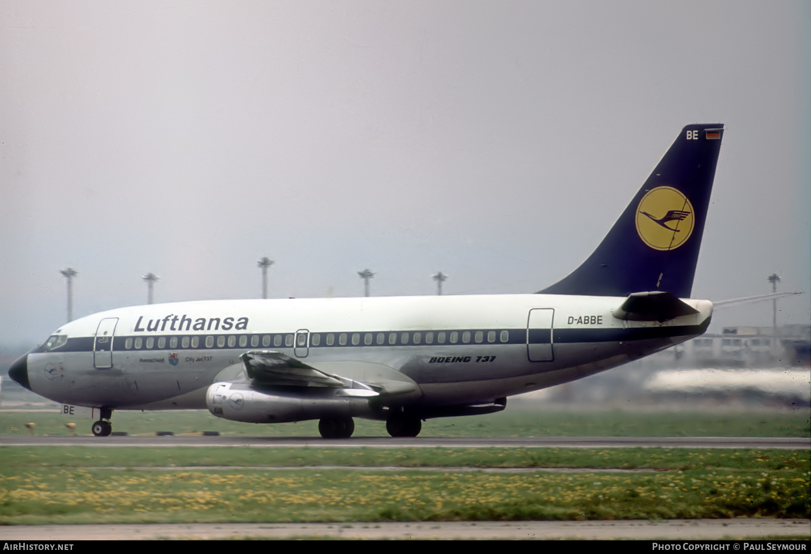
{"type": "Polygon", "coordinates": [[[657,186],[637,207],[637,233],[650,248],[672,250],[693,233],[693,204],[672,186],[657,186]]]}

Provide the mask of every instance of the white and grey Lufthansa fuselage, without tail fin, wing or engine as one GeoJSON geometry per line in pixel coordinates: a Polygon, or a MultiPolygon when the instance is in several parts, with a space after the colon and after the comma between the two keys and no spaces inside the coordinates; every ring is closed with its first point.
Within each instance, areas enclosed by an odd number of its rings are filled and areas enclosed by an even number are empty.
{"type": "MultiPolygon", "coordinates": [[[[31,389],[111,409],[204,408],[217,375],[250,350],[306,364],[364,363],[413,381],[393,403],[459,405],[557,385],[700,335],[712,304],[665,323],[611,315],[624,298],[493,295],[212,300],[114,309],[67,323],[28,355],[31,389]],[[371,365],[371,364],[369,364],[371,365]]],[[[380,372],[378,372],[380,373],[380,372]]]]}

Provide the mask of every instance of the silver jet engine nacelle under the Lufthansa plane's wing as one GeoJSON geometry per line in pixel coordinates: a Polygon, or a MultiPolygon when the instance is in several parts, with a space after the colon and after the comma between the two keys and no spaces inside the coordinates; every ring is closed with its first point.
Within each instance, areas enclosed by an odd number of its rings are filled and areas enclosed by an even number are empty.
{"type": "Polygon", "coordinates": [[[283,423],[324,417],[371,416],[368,398],[352,390],[296,387],[260,390],[247,382],[219,382],[208,387],[206,405],[217,417],[245,423],[283,423]]]}

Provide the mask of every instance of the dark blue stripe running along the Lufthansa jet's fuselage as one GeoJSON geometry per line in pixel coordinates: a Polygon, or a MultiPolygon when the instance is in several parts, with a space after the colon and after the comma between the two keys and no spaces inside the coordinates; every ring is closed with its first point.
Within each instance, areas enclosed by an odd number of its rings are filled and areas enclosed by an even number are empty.
{"type": "MultiPolygon", "coordinates": [[[[587,328],[587,329],[552,329],[551,333],[549,329],[530,329],[527,330],[526,328],[521,329],[441,329],[441,330],[376,330],[376,331],[328,331],[328,332],[318,332],[318,333],[311,333],[310,335],[320,335],[320,343],[317,346],[313,346],[310,344],[309,348],[347,348],[347,347],[365,347],[365,348],[372,348],[372,347],[471,347],[471,346],[500,346],[504,344],[548,344],[550,343],[550,335],[551,335],[551,342],[555,344],[565,344],[565,343],[614,343],[619,341],[631,341],[631,340],[645,340],[645,339],[663,339],[667,337],[679,337],[679,336],[687,336],[687,335],[701,335],[709,326],[710,322],[707,321],[702,325],[691,325],[691,326],[659,326],[659,327],[641,327],[641,328],[630,328],[630,329],[600,329],[600,328],[587,328]],[[508,339],[506,342],[501,342],[500,333],[501,331],[506,330],[508,332],[508,339]],[[414,344],[411,342],[414,338],[414,333],[418,332],[422,335],[420,339],[420,343],[414,344]],[[463,333],[470,333],[470,342],[463,343],[461,341],[463,333]],[[474,340],[475,334],[477,332],[483,333],[483,341],[481,343],[477,343],[474,340]],[[487,342],[487,334],[490,332],[496,333],[496,341],[495,342],[487,342]],[[326,343],[326,336],[332,333],[334,335],[334,343],[328,345],[326,343]],[[352,344],[351,338],[354,334],[360,335],[360,342],[358,344],[352,344]],[[382,344],[377,343],[377,335],[384,334],[384,342],[382,344]],[[396,341],[395,343],[389,343],[388,337],[390,334],[396,333],[396,341]],[[403,333],[407,333],[409,335],[409,342],[402,343],[402,335],[403,333]],[[427,333],[434,334],[434,341],[432,343],[425,342],[425,335],[427,333]],[[439,333],[445,334],[445,342],[438,343],[436,341],[437,335],[439,333]],[[457,342],[451,343],[449,341],[451,333],[457,333],[457,342]],[[367,334],[372,335],[373,342],[371,344],[364,343],[364,336],[367,334]],[[339,344],[338,337],[339,335],[346,335],[346,343],[339,344]],[[529,339],[529,340],[528,340],[529,339]]],[[[114,337],[113,342],[113,350],[116,352],[149,352],[149,351],[166,351],[166,350],[229,350],[229,349],[238,349],[238,350],[246,350],[246,349],[276,349],[276,348],[294,348],[294,345],[287,346],[285,344],[285,338],[287,336],[293,337],[294,333],[263,333],[263,334],[242,334],[242,335],[126,335],[126,336],[117,336],[114,337]],[[245,346],[238,346],[239,337],[245,336],[247,337],[247,344],[245,346]],[[268,346],[263,345],[263,338],[265,336],[270,336],[272,339],[276,336],[281,336],[281,345],[274,346],[273,341],[271,339],[271,343],[268,346]],[[183,338],[190,339],[189,346],[183,347],[182,346],[182,339],[183,338]],[[197,337],[200,340],[200,343],[196,347],[191,346],[191,338],[197,337]],[[208,337],[212,337],[214,345],[212,347],[205,346],[205,339],[208,337]],[[223,338],[225,344],[221,347],[217,346],[217,339],[223,338]],[[229,337],[236,337],[237,344],[233,347],[228,346],[228,338],[229,337]],[[251,346],[251,339],[253,337],[258,337],[258,345],[251,346]],[[177,346],[170,347],[169,341],[171,339],[177,339],[177,346]],[[142,339],[142,345],[140,348],[125,348],[124,345],[127,339],[132,339],[132,342],[135,342],[135,339],[142,339]],[[152,347],[146,347],[146,340],[153,339],[152,347]],[[165,344],[163,347],[158,347],[158,339],[165,339],[165,344]]],[[[54,352],[92,352],[93,349],[93,337],[76,337],[73,339],[68,339],[67,343],[63,344],[61,347],[58,347],[54,352]]],[[[45,350],[44,347],[36,348],[32,352],[48,352],[45,350]]]]}

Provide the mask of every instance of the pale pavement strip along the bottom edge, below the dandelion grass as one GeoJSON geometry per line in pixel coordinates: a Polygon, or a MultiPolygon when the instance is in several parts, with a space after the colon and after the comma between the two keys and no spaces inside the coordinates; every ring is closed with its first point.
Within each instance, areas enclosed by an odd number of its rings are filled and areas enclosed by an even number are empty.
{"type": "MultiPolygon", "coordinates": [[[[585,522],[171,523],[4,526],[0,540],[109,539],[672,539],[809,537],[808,519],[672,519],[585,522]]],[[[765,548],[764,548],[765,549],[765,548]]],[[[730,549],[732,550],[732,549],[730,549]]]]}

